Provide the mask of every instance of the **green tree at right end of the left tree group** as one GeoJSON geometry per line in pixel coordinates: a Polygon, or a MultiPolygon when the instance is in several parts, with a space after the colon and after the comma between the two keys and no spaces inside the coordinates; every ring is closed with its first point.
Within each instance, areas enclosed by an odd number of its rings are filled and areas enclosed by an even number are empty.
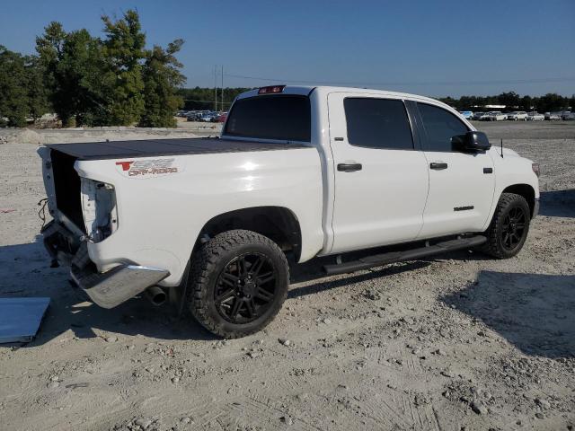
{"type": "Polygon", "coordinates": [[[166,49],[155,46],[146,53],[142,74],[144,79],[145,111],[139,126],[144,128],[175,128],[173,114],[183,106],[183,99],[176,94],[177,87],[186,78],[181,75],[181,63],[175,57],[183,40],[174,40],[166,49]]]}

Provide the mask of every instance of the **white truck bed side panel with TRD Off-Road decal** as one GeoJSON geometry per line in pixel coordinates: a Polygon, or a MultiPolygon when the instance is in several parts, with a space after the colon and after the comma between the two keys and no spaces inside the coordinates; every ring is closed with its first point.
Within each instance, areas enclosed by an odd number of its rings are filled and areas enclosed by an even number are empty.
{"type": "Polygon", "coordinates": [[[116,189],[118,230],[88,246],[99,270],[130,260],[168,269],[171,275],[162,285],[175,286],[204,224],[247,207],[292,211],[302,231],[300,261],[322,249],[322,170],[315,148],[156,157],[166,158],[173,159],[177,172],[129,176],[120,163],[149,158],[76,163],[81,176],[116,189]]]}

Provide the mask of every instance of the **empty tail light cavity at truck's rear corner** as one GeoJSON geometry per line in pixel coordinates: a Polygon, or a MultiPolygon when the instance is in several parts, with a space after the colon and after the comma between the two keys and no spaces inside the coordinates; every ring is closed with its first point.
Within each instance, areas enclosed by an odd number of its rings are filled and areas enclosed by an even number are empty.
{"type": "Polygon", "coordinates": [[[118,229],[116,191],[102,181],[81,178],[80,182],[87,239],[101,242],[118,229]]]}

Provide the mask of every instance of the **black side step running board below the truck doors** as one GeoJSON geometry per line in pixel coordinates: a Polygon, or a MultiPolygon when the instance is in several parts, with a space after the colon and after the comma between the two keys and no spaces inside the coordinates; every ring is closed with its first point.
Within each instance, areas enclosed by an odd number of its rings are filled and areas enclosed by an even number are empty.
{"type": "Polygon", "coordinates": [[[348,272],[358,271],[360,269],[379,267],[388,263],[420,259],[446,251],[470,249],[472,247],[482,245],[484,242],[487,242],[487,238],[481,235],[471,236],[468,238],[458,238],[456,240],[438,242],[434,245],[420,247],[419,249],[411,249],[408,251],[391,251],[389,253],[375,254],[373,256],[367,256],[366,258],[352,260],[350,262],[324,265],[323,271],[325,271],[328,276],[346,274],[348,272]]]}

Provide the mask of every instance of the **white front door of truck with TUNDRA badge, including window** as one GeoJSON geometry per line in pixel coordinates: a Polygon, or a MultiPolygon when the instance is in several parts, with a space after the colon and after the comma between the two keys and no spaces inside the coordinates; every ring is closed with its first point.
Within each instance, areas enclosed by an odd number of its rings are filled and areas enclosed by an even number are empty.
{"type": "Polygon", "coordinates": [[[454,150],[452,136],[469,130],[464,122],[435,105],[418,102],[417,107],[429,170],[429,195],[420,238],[481,231],[495,189],[491,155],[454,150]]]}

